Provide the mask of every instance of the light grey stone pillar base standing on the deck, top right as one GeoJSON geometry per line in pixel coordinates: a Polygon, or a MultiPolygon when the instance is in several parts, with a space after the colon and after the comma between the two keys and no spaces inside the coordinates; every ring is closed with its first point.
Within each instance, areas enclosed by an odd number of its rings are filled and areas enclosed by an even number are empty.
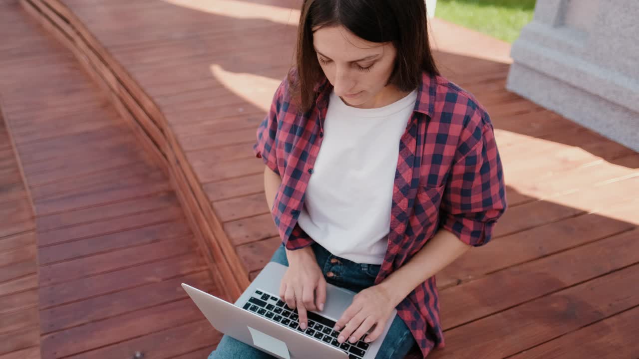
{"type": "Polygon", "coordinates": [[[638,0],[537,0],[507,89],[639,151],[638,19],[638,0]]]}

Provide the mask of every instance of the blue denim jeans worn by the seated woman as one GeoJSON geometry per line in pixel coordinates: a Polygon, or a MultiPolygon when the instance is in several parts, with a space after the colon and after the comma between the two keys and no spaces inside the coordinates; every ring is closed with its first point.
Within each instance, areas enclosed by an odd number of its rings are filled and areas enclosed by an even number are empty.
{"type": "MultiPolygon", "coordinates": [[[[333,256],[325,248],[312,244],[312,250],[318,261],[319,268],[324,273],[327,283],[334,286],[350,289],[359,292],[362,289],[373,286],[380,266],[376,264],[355,263],[341,257],[333,256]],[[332,263],[332,259],[337,259],[332,263]],[[328,272],[333,272],[333,277],[327,277],[328,272]]],[[[286,250],[284,245],[280,245],[271,258],[272,262],[288,266],[286,250]]],[[[389,332],[381,343],[376,359],[404,358],[408,351],[416,345],[413,335],[408,330],[404,321],[396,316],[390,325],[389,332]]],[[[244,344],[239,340],[224,335],[217,349],[215,349],[208,359],[271,359],[273,356],[266,354],[259,349],[244,344]]]]}

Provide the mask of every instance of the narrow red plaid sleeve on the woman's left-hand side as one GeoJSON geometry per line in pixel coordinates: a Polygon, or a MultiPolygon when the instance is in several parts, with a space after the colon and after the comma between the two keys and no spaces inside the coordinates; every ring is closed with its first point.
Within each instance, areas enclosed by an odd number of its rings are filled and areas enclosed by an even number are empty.
{"type": "Polygon", "coordinates": [[[277,155],[276,155],[276,143],[277,143],[277,116],[282,103],[282,95],[284,95],[284,84],[286,80],[282,81],[275,94],[273,95],[273,101],[271,103],[270,110],[264,120],[258,126],[257,142],[253,145],[253,152],[256,157],[262,158],[264,164],[273,172],[280,174],[277,168],[277,155]]]}

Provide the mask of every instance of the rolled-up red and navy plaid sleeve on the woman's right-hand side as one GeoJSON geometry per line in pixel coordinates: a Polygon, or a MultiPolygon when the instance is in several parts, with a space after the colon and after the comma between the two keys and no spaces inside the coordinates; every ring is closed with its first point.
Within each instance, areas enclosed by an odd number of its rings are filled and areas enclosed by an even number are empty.
{"type": "Polygon", "coordinates": [[[482,122],[459,145],[440,207],[442,227],[473,247],[491,240],[493,227],[507,208],[493,126],[482,122]]]}

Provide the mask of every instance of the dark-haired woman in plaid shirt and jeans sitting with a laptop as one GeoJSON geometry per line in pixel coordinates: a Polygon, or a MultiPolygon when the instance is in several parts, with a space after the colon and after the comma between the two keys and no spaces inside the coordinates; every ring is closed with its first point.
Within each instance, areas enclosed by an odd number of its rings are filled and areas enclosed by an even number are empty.
{"type": "MultiPolygon", "coordinates": [[[[339,341],[376,358],[443,347],[435,274],[488,243],[506,208],[488,113],[441,77],[424,0],[305,0],[296,65],[254,151],[289,267],[280,296],[323,309],[326,284],[358,292],[339,341]]],[[[223,337],[210,358],[271,358],[223,337]]]]}

